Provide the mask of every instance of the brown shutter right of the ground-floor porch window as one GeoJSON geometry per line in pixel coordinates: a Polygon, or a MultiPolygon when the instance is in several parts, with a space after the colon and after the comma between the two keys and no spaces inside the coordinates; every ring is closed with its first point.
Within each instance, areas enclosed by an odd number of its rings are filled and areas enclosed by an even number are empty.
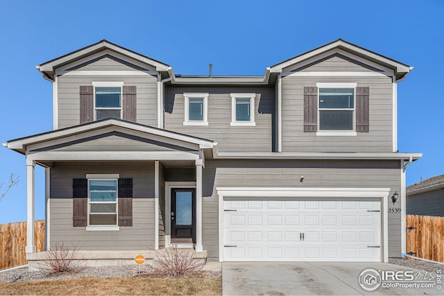
{"type": "Polygon", "coordinates": [[[133,226],[133,179],[119,179],[118,184],[119,226],[133,226]]]}

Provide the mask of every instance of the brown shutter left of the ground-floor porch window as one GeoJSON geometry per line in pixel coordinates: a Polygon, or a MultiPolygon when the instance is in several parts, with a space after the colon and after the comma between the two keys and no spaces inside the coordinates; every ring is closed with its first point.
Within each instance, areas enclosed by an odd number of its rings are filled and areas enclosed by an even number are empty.
{"type": "Polygon", "coordinates": [[[73,226],[87,226],[88,221],[88,180],[72,180],[73,226]]]}

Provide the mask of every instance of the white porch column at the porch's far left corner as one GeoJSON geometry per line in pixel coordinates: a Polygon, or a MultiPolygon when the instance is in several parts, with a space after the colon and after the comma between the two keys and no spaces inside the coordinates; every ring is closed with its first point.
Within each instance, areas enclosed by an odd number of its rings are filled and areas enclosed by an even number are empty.
{"type": "Polygon", "coordinates": [[[26,253],[35,253],[34,241],[34,197],[35,197],[35,162],[26,159],[26,253]]]}

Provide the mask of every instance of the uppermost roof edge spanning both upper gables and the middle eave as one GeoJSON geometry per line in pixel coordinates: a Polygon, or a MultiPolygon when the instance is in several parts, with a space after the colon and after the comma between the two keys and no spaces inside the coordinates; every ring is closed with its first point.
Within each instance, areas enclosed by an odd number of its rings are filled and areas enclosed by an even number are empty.
{"type": "Polygon", "coordinates": [[[127,58],[136,60],[137,62],[142,62],[143,64],[148,64],[159,71],[163,77],[171,78],[172,84],[194,84],[200,83],[203,85],[233,85],[233,84],[243,84],[243,85],[268,85],[269,83],[274,83],[275,79],[278,77],[279,73],[294,71],[301,67],[305,67],[309,63],[322,60],[323,58],[329,58],[332,54],[349,55],[352,58],[360,59],[364,64],[368,64],[369,67],[375,69],[375,71],[380,71],[386,73],[386,70],[390,73],[390,76],[395,75],[396,80],[402,80],[407,76],[407,73],[413,69],[407,64],[398,62],[391,58],[387,58],[379,53],[374,53],[368,49],[364,49],[360,46],[352,44],[342,39],[335,40],[323,46],[307,51],[296,57],[290,58],[283,62],[279,62],[271,67],[266,67],[263,76],[185,76],[176,75],[173,68],[168,64],[149,58],[146,55],[136,53],[135,51],[130,51],[117,44],[113,44],[108,40],[101,40],[90,46],[86,46],[78,51],[73,51],[66,55],[62,55],[60,58],[44,62],[37,66],[37,69],[44,74],[45,78],[49,80],[54,79],[55,70],[58,67],[65,66],[72,62],[82,60],[87,58],[89,55],[94,55],[101,51],[110,50],[114,53],[119,53],[127,58]]]}

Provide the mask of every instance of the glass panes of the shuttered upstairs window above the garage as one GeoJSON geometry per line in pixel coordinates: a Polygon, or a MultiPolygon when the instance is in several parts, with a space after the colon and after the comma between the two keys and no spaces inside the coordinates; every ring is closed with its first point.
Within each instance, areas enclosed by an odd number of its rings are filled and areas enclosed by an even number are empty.
{"type": "Polygon", "coordinates": [[[354,88],[319,88],[319,130],[354,130],[354,88]]]}

